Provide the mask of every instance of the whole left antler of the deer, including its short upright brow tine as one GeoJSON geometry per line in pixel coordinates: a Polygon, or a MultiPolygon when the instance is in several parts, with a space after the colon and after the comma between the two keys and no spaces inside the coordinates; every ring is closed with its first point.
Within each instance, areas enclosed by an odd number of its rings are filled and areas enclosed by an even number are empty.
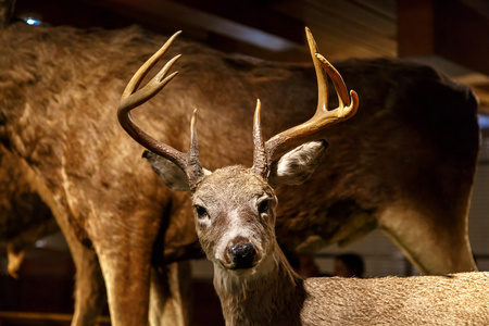
{"type": "Polygon", "coordinates": [[[148,61],[136,72],[130,78],[123,92],[121,104],[117,111],[117,118],[121,126],[133,137],[137,142],[142,145],[148,150],[174,162],[186,174],[189,179],[190,187],[196,185],[197,180],[203,175],[202,166],[199,162],[199,150],[197,146],[197,131],[196,131],[196,116],[197,110],[193,111],[193,115],[190,123],[190,149],[187,153],[183,153],[173,147],[160,142],[149,136],[142,130],[130,116],[130,111],[152,97],[154,97],[165,85],[172,80],[178,72],[174,72],[166,76],[173,64],[180,58],[180,54],[170,60],[165,66],[141,89],[137,90],[140,83],[147,75],[147,73],[154,66],[154,64],[166,53],[173,41],[181,32],[175,33],[164,45],[156,51],[148,61]]]}

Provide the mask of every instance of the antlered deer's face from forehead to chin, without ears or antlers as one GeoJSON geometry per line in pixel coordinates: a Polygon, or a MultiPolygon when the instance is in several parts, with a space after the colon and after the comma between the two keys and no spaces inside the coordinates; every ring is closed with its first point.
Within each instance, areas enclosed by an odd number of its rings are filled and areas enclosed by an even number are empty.
{"type": "Polygon", "coordinates": [[[277,199],[251,170],[230,166],[205,176],[192,203],[200,243],[213,263],[242,273],[273,248],[277,199]]]}

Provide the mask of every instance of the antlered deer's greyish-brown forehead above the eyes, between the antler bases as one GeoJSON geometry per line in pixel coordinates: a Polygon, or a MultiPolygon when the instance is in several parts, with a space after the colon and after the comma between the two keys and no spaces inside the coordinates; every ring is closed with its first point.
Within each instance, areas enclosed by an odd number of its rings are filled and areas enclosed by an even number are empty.
{"type": "Polygon", "coordinates": [[[196,188],[192,200],[209,208],[213,204],[227,206],[256,202],[263,197],[275,197],[272,187],[250,168],[237,165],[205,176],[196,188]]]}

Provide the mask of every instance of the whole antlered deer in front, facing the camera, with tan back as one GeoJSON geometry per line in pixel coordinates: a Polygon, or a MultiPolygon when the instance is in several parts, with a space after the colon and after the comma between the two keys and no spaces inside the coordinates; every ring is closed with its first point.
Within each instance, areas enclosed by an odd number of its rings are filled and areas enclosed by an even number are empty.
{"type": "Polygon", "coordinates": [[[313,140],[287,150],[298,140],[352,117],[359,108],[356,92],[348,91],[341,75],[318,52],[308,28],[306,35],[317,74],[316,112],[309,121],[264,141],[258,100],[251,167],[230,165],[214,172],[202,167],[197,109],[187,152],[155,140],[133,121],[130,111],[154,97],[176,75],[168,75],[168,70],[178,57],[137,89],[165,47],[134,75],[117,111],[121,125],[148,150],[145,156],[163,181],[175,191],[191,193],[197,235],[214,266],[214,287],[226,325],[486,325],[489,273],[302,278],[289,265],[276,240],[278,200],[274,189],[311,177],[328,143],[313,140]],[[339,106],[334,110],[328,110],[326,75],[338,96],[339,106]]]}

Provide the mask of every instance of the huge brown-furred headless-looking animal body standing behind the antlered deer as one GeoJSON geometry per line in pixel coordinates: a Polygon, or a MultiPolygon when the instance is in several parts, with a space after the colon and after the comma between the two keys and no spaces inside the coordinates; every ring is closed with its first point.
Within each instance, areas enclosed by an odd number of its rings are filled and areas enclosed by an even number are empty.
{"type": "MultiPolygon", "coordinates": [[[[178,283],[167,280],[177,279],[177,267],[164,266],[201,254],[189,197],[170,191],[141,164],[140,146],[114,113],[130,76],[164,41],[137,27],[14,24],[0,32],[1,159],[13,160],[1,166],[22,167],[28,191],[67,240],[77,267],[74,325],[93,323],[102,279],[113,325],[145,324],[150,292],[158,302],[153,321],[173,311],[173,319],[188,323],[185,309],[175,308],[178,283]]],[[[134,118],[185,148],[181,129],[199,108],[208,168],[249,163],[256,98],[267,108],[265,136],[305,121],[304,108],[315,105],[312,65],[236,59],[185,39],[168,57],[177,53],[184,54],[175,65],[179,76],[134,118]]],[[[322,131],[331,147],[310,181],[277,191],[280,246],[314,250],[378,227],[423,273],[475,268],[466,236],[478,151],[471,90],[405,62],[336,66],[358,91],[361,109],[322,131]]],[[[11,210],[0,212],[13,218],[11,210]]]]}

